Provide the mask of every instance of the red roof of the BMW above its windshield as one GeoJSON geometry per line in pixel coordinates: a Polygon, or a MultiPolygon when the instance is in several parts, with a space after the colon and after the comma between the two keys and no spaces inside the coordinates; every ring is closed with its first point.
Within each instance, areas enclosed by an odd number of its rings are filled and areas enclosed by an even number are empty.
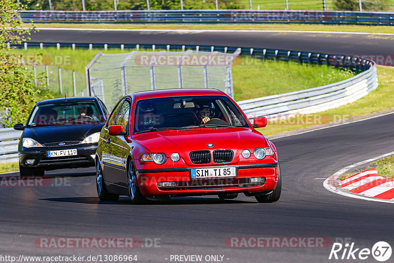
{"type": "Polygon", "coordinates": [[[165,89],[154,91],[141,91],[134,94],[137,99],[151,99],[174,96],[225,95],[225,93],[217,89],[165,89]]]}

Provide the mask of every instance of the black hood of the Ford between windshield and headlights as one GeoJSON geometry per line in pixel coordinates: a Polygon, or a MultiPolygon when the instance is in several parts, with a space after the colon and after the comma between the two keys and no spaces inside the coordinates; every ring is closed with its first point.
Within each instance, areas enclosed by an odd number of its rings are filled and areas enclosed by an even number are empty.
{"type": "Polygon", "coordinates": [[[39,143],[77,140],[82,141],[90,134],[100,132],[103,126],[104,123],[36,126],[26,128],[24,130],[23,137],[32,138],[39,143]]]}

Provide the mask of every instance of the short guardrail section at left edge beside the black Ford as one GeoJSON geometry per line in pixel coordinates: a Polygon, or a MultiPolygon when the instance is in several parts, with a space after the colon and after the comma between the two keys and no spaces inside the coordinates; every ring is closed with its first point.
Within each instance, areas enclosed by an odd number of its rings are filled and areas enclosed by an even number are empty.
{"type": "Polygon", "coordinates": [[[18,143],[22,131],[14,128],[0,129],[0,163],[14,163],[19,161],[18,143]]]}

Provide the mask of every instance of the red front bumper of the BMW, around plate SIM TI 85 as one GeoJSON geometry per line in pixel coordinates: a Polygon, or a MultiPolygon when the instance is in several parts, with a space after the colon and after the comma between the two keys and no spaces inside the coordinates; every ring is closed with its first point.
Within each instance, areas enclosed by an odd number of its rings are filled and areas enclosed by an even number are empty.
{"type": "Polygon", "coordinates": [[[253,195],[276,187],[278,163],[228,166],[236,167],[236,177],[191,179],[191,169],[198,167],[139,169],[138,185],[145,197],[202,196],[223,192],[253,195]],[[256,177],[263,177],[263,182],[251,183],[250,178],[256,177]],[[175,182],[176,186],[158,187],[158,182],[175,182]]]}

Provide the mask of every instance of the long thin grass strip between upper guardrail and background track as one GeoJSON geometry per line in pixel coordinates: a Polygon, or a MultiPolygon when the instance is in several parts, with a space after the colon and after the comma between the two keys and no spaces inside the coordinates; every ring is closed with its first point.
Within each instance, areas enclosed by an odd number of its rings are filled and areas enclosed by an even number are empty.
{"type": "MultiPolygon", "coordinates": [[[[29,27],[28,24],[24,25],[29,27]]],[[[331,31],[394,33],[392,26],[357,26],[357,25],[303,25],[303,24],[261,24],[261,25],[149,25],[149,24],[36,24],[38,28],[92,28],[92,29],[155,29],[155,30],[295,30],[295,31],[331,31]]]]}

